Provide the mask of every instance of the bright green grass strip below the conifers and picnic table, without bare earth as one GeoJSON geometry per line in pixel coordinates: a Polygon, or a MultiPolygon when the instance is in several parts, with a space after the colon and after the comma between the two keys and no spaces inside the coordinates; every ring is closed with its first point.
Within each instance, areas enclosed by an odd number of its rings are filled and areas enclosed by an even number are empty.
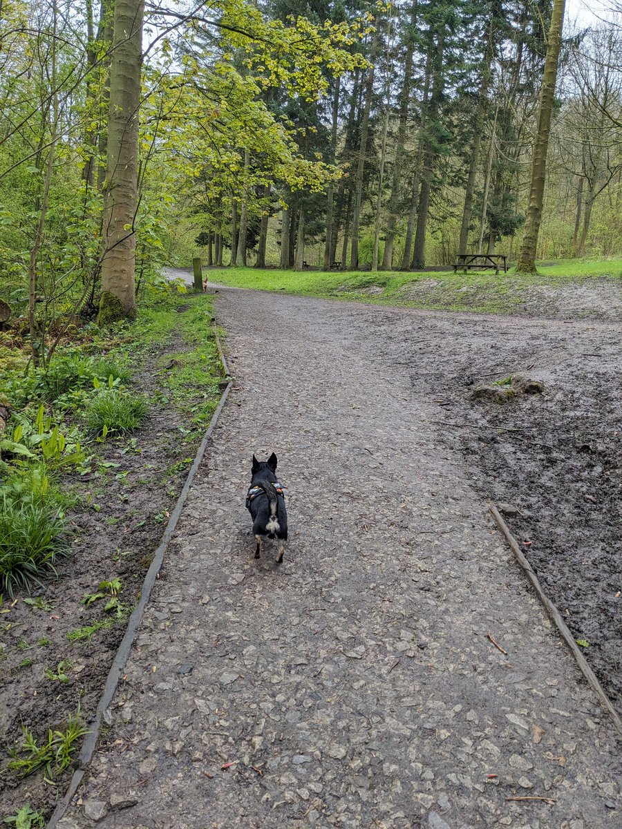
{"type": "Polygon", "coordinates": [[[293,271],[233,268],[210,270],[211,282],[301,296],[403,305],[447,311],[512,313],[528,288],[563,286],[599,277],[622,279],[622,260],[569,259],[538,266],[539,274],[493,271],[293,271]]]}

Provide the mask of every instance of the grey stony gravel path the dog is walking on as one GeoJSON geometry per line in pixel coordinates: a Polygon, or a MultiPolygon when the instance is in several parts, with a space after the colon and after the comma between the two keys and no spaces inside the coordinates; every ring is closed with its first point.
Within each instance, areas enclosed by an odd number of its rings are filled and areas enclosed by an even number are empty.
{"type": "Polygon", "coordinates": [[[620,826],[610,722],[435,402],[458,335],[520,321],[228,289],[217,308],[236,389],[61,827],[620,826]],[[280,567],[244,509],[272,450],[280,567]]]}

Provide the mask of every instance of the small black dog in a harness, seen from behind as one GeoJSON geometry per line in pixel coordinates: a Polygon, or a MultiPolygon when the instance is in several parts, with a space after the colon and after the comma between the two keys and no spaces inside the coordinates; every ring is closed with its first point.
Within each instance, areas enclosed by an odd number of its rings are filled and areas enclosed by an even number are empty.
{"type": "Polygon", "coordinates": [[[276,463],[274,452],[267,461],[258,461],[253,455],[246,509],[253,518],[253,535],[257,540],[255,559],[263,552],[264,536],[268,536],[276,538],[279,542],[276,562],[280,564],[283,560],[284,543],[287,541],[287,512],[283,487],[275,475],[276,463]]]}

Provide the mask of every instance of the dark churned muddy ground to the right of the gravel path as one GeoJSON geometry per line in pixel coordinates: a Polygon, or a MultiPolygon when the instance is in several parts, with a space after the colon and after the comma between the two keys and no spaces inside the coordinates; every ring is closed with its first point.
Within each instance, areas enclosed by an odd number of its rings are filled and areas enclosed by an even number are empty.
{"type": "Polygon", "coordinates": [[[573,296],[566,308],[555,321],[394,320],[387,363],[410,364],[415,389],[435,396],[482,496],[518,507],[513,534],[622,711],[622,327],[572,319],[573,296]],[[544,393],[470,399],[474,385],[519,372],[544,393]]]}

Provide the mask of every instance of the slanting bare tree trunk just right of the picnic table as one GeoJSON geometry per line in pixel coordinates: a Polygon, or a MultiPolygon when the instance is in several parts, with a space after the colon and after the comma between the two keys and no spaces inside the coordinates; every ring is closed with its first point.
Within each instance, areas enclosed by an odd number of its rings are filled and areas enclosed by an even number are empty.
{"type": "Polygon", "coordinates": [[[548,139],[551,132],[551,114],[557,80],[557,65],[561,50],[561,29],[564,21],[565,5],[566,0],[553,0],[547,59],[544,64],[544,75],[542,76],[542,88],[540,90],[540,112],[538,114],[536,142],[533,146],[527,218],[525,220],[525,230],[522,234],[521,252],[516,266],[517,272],[522,274],[536,273],[537,236],[542,222],[548,139]]]}

